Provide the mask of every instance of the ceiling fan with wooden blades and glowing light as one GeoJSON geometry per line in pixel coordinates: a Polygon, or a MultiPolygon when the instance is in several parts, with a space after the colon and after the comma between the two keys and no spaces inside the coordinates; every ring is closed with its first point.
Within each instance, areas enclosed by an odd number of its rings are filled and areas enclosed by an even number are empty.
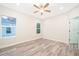
{"type": "Polygon", "coordinates": [[[50,10],[48,10],[48,6],[49,6],[49,3],[46,3],[45,5],[41,4],[40,6],[37,6],[37,5],[33,5],[35,8],[37,8],[38,10],[34,11],[34,13],[37,13],[37,12],[40,12],[41,15],[43,15],[44,12],[51,12],[50,10]]]}

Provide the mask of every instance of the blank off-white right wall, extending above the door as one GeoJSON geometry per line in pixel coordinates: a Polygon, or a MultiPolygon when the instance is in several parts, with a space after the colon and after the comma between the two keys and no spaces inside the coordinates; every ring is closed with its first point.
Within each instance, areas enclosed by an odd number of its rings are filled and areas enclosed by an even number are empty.
{"type": "Polygon", "coordinates": [[[79,16],[79,7],[59,16],[43,21],[43,37],[50,40],[69,43],[69,19],[79,16]]]}

